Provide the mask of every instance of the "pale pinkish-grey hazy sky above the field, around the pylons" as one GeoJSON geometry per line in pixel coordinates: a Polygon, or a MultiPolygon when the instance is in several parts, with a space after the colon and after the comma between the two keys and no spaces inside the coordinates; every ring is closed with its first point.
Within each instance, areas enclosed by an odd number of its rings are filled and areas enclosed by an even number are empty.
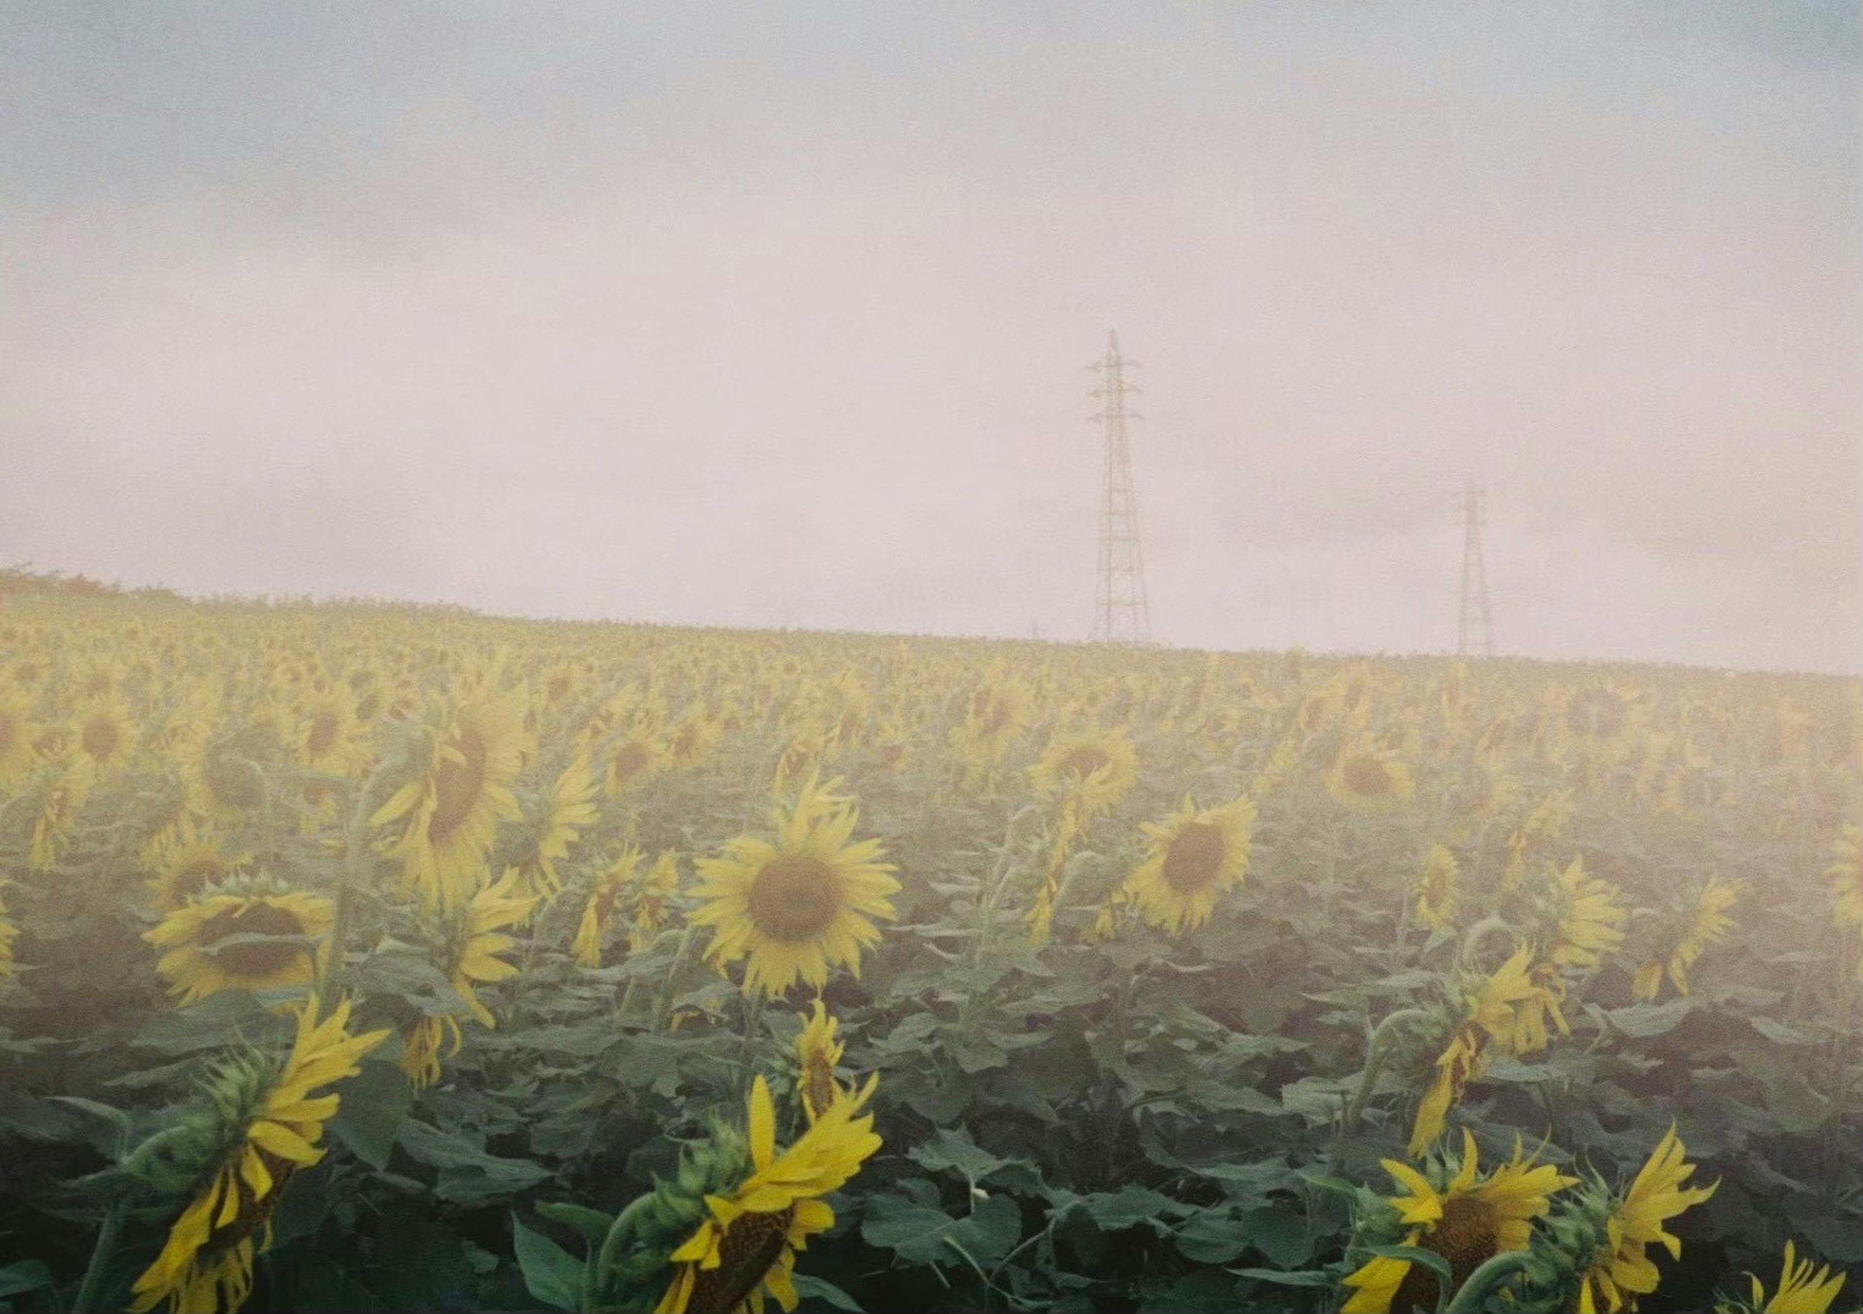
{"type": "Polygon", "coordinates": [[[1857,7],[0,7],[0,565],[1863,667],[1857,7]]]}

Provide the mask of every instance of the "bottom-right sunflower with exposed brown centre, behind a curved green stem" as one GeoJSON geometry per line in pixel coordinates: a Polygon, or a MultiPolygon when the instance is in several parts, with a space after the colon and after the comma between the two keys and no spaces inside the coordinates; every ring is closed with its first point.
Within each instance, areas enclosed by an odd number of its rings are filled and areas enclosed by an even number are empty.
{"type": "MultiPolygon", "coordinates": [[[[1418,1172],[1408,1163],[1382,1159],[1384,1170],[1408,1195],[1382,1202],[1384,1217],[1371,1219],[1364,1228],[1366,1239],[1380,1243],[1384,1238],[1379,1232],[1390,1232],[1392,1241],[1440,1254],[1449,1262],[1453,1292],[1496,1254],[1528,1249],[1533,1219],[1546,1213],[1554,1191],[1578,1184],[1578,1178],[1563,1176],[1550,1163],[1535,1165],[1531,1157],[1522,1159],[1518,1141],[1513,1159],[1485,1176],[1477,1176],[1475,1157],[1475,1137],[1462,1128],[1462,1157],[1453,1174],[1448,1163],[1431,1161],[1418,1172]]],[[[1436,1275],[1420,1264],[1388,1254],[1373,1254],[1349,1273],[1343,1284],[1353,1288],[1353,1295],[1339,1314],[1392,1314],[1436,1307],[1436,1275]]]]}

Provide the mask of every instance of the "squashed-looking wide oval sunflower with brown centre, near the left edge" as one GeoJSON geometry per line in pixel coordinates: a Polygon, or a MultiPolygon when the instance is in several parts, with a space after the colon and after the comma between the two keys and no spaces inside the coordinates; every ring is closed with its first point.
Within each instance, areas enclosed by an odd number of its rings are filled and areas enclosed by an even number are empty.
{"type": "Polygon", "coordinates": [[[330,934],[333,919],[322,895],[224,889],[183,904],[142,938],[166,951],[155,969],[190,1005],[218,990],[311,984],[311,943],[330,934]]]}

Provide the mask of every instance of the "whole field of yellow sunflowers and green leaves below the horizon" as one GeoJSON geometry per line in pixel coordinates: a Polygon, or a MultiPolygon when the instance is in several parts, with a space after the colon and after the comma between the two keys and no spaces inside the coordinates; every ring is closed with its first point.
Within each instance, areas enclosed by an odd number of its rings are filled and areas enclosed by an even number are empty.
{"type": "Polygon", "coordinates": [[[1854,1308],[1859,822],[1831,677],[13,596],[0,1308],[1854,1308]]]}

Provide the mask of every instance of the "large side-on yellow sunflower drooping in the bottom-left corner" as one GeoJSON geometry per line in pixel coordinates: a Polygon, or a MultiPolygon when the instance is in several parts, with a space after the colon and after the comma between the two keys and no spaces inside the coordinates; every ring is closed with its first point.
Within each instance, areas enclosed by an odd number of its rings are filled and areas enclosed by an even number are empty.
{"type": "Polygon", "coordinates": [[[196,1195],[168,1230],[168,1243],[136,1279],[130,1310],[160,1303],[175,1314],[237,1310],[252,1293],[252,1260],[272,1241],[272,1213],[292,1174],[324,1157],[319,1141],[339,1105],[313,1094],[360,1072],[386,1031],[348,1034],[348,1001],[317,1020],[317,999],[298,1010],[283,1064],[261,1055],[231,1061],[211,1085],[214,1139],[225,1146],[205,1165],[196,1195]]]}

